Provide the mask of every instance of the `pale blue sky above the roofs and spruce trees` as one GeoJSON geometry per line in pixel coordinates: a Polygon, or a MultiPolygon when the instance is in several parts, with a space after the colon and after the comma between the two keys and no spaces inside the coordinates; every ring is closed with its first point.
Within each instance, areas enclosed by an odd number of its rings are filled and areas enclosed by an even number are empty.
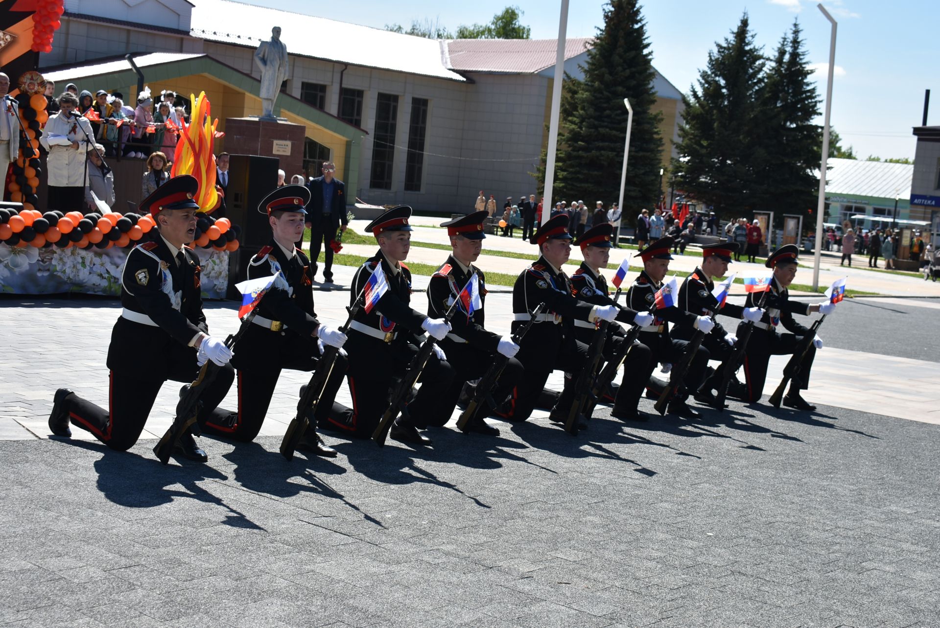
{"type": "MultiPolygon", "coordinates": [[[[331,17],[344,22],[383,27],[413,19],[439,20],[450,30],[459,24],[486,23],[508,4],[524,11],[523,24],[534,39],[558,34],[557,0],[476,0],[472,3],[440,0],[346,0],[318,4],[302,0],[250,0],[251,4],[331,17]]],[[[570,0],[568,37],[590,37],[603,24],[603,3],[570,0]]],[[[643,8],[650,35],[653,65],[687,92],[705,65],[714,42],[724,39],[748,12],[751,28],[764,52],[773,53],[780,37],[799,19],[807,39],[809,60],[823,66],[817,71],[820,94],[825,95],[825,64],[829,57],[829,23],[807,0],[648,0],[643,8]]],[[[836,79],[832,124],[843,144],[854,146],[865,158],[914,158],[911,127],[919,126],[924,89],[932,88],[932,114],[928,124],[940,124],[940,80],[935,26],[940,24],[940,2],[928,0],[830,0],[823,3],[838,21],[836,79]],[[920,25],[918,27],[918,24],[920,25]]],[[[311,33],[311,37],[316,37],[311,33]]],[[[354,45],[353,42],[350,42],[354,45]]],[[[822,106],[821,106],[822,110],[822,106]]],[[[820,118],[822,123],[822,117],[820,118]]]]}

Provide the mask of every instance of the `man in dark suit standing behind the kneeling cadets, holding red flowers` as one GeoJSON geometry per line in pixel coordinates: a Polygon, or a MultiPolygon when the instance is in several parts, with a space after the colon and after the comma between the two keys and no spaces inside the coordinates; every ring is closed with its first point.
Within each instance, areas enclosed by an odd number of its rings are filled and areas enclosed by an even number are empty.
{"type": "Polygon", "coordinates": [[[326,257],[323,264],[323,281],[333,283],[333,249],[330,243],[349,225],[346,217],[346,184],[336,179],[333,174],[337,166],[333,162],[323,162],[323,176],[317,177],[307,185],[310,188],[310,202],[306,206],[306,227],[310,229],[310,278],[317,275],[317,259],[320,257],[320,245],[323,243],[326,257]]]}

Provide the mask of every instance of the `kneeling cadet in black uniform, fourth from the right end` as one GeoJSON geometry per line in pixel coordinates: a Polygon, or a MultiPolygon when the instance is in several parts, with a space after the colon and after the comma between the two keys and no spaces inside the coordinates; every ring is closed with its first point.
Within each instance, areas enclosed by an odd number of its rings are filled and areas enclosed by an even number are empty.
{"type": "MultiPolygon", "coordinates": [[[[612,306],[614,300],[610,297],[607,280],[601,275],[601,270],[607,267],[610,259],[610,238],[614,233],[614,226],[604,223],[588,229],[574,243],[581,247],[581,255],[585,259],[581,267],[572,275],[572,294],[581,301],[595,306],[612,306]]],[[[625,315],[618,316],[618,320],[635,325],[645,326],[652,322],[649,312],[636,312],[629,307],[618,305],[625,315]]],[[[613,358],[614,353],[620,351],[624,340],[623,328],[618,324],[608,326],[607,339],[603,344],[603,357],[605,360],[613,358]]],[[[594,338],[597,325],[587,321],[574,321],[574,337],[589,345],[594,338]]],[[[623,380],[611,398],[614,407],[611,415],[627,420],[646,420],[646,416],[637,411],[640,396],[646,387],[643,374],[650,366],[650,348],[635,342],[623,360],[623,380]]],[[[614,384],[611,383],[611,387],[614,384]]]]}

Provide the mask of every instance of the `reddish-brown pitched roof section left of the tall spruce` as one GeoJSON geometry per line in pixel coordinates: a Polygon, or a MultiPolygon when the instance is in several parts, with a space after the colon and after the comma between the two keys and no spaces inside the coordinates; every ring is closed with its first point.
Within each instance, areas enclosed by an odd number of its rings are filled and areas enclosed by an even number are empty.
{"type": "MultiPolygon", "coordinates": [[[[565,41],[565,59],[589,48],[591,38],[565,41]]],[[[447,39],[447,68],[456,71],[535,74],[555,66],[557,39],[447,39]]]]}

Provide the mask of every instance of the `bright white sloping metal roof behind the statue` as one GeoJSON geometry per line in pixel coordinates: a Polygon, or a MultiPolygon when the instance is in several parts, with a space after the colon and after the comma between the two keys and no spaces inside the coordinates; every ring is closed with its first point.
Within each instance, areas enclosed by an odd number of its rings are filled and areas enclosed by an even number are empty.
{"type": "Polygon", "coordinates": [[[437,39],[232,0],[194,3],[190,34],[199,39],[257,47],[271,38],[274,26],[280,26],[281,41],[291,55],[466,82],[445,67],[437,39]]]}

